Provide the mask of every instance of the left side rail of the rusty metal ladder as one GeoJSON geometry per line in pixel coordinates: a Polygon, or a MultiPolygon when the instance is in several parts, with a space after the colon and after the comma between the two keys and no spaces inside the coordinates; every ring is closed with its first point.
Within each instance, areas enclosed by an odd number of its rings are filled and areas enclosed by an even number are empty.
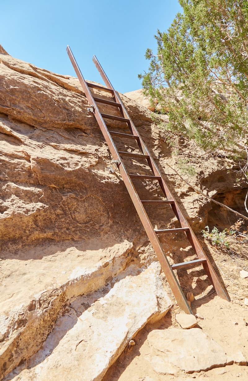
{"type": "MultiPolygon", "coordinates": [[[[174,296],[177,300],[177,303],[178,303],[179,307],[184,312],[186,312],[187,314],[193,314],[191,308],[189,307],[189,305],[187,303],[187,299],[184,296],[182,288],[179,285],[179,282],[176,278],[176,275],[174,274],[174,272],[171,268],[171,265],[169,264],[169,261],[166,258],[166,255],[165,255],[164,250],[161,246],[161,243],[159,242],[159,239],[158,239],[158,237],[157,237],[157,235],[153,229],[153,226],[151,225],[150,219],[148,218],[148,215],[145,211],[145,208],[143,207],[143,204],[142,204],[142,202],[138,196],[138,193],[137,193],[137,191],[136,191],[136,189],[135,189],[135,187],[134,187],[134,185],[133,185],[133,183],[129,177],[129,174],[126,171],[124,164],[122,163],[121,157],[118,154],[118,151],[114,145],[114,142],[113,142],[110,134],[108,133],[108,129],[106,127],[106,124],[105,124],[103,118],[101,117],[101,114],[98,110],[98,107],[95,104],[93,96],[87,87],[87,83],[85,83],[85,80],[84,80],[84,77],[81,73],[81,70],[79,69],[77,62],[76,62],[76,59],[74,58],[72,51],[69,48],[69,46],[67,48],[67,52],[68,52],[69,58],[71,59],[72,65],[76,71],[76,74],[79,78],[79,81],[82,85],[82,88],[85,92],[85,95],[86,95],[88,102],[89,101],[92,102],[92,104],[95,107],[95,110],[96,110],[95,117],[96,117],[97,122],[100,126],[100,129],[103,133],[103,136],[106,139],[106,142],[110,148],[111,154],[113,155],[114,159],[119,160],[119,163],[120,163],[119,171],[121,173],[122,179],[126,185],[127,191],[129,192],[129,195],[132,199],[132,202],[134,203],[134,207],[137,210],[138,216],[140,217],[140,220],[141,220],[141,222],[145,228],[145,231],[148,235],[148,238],[151,242],[151,245],[152,245],[153,249],[155,250],[155,253],[156,253],[158,260],[161,264],[161,267],[164,271],[164,274],[166,275],[166,279],[167,279],[171,289],[173,290],[173,293],[174,293],[174,296]]],[[[89,104],[90,104],[90,102],[89,102],[89,104]]]]}

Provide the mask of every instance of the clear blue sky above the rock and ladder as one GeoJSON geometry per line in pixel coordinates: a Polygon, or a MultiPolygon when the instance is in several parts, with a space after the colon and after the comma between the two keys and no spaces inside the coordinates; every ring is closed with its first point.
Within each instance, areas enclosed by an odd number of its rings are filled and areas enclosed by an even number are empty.
{"type": "Polygon", "coordinates": [[[121,93],[142,87],[144,54],[153,37],[180,11],[177,0],[1,0],[0,44],[16,58],[58,74],[76,76],[70,45],[85,79],[101,82],[95,54],[121,93]]]}

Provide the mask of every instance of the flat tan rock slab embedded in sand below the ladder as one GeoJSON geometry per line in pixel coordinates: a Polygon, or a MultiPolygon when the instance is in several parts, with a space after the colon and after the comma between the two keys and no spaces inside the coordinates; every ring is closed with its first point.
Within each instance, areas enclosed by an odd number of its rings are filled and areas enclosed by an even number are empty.
{"type": "Polygon", "coordinates": [[[200,328],[153,330],[148,334],[150,360],[159,374],[200,372],[225,366],[227,355],[219,344],[200,328]]]}

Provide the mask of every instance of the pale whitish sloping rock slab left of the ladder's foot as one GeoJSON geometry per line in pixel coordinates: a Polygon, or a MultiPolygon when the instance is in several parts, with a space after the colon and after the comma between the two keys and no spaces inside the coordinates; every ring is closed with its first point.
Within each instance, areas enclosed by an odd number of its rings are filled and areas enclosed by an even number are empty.
{"type": "Polygon", "coordinates": [[[44,349],[29,360],[30,369],[13,381],[54,381],[58,375],[60,381],[72,375],[75,381],[100,381],[130,339],[171,308],[159,271],[159,264],[153,263],[138,275],[116,279],[105,296],[92,296],[92,301],[97,300],[91,307],[89,298],[71,301],[43,343],[44,349]]]}

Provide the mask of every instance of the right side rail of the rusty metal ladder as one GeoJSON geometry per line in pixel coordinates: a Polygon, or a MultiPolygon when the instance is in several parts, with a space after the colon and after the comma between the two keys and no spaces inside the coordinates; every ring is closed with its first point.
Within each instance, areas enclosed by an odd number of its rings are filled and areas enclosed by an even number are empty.
{"type": "Polygon", "coordinates": [[[151,163],[151,170],[153,171],[155,176],[161,176],[161,182],[163,184],[163,187],[161,187],[162,191],[165,193],[168,200],[174,200],[174,205],[171,205],[171,207],[172,207],[172,209],[174,209],[174,213],[175,213],[176,217],[179,219],[181,226],[182,227],[189,227],[190,232],[188,232],[187,238],[188,238],[189,242],[192,244],[193,248],[195,248],[195,252],[196,252],[197,257],[199,259],[206,259],[207,260],[206,263],[203,263],[203,268],[204,268],[206,274],[208,275],[209,280],[213,284],[217,295],[221,296],[223,299],[230,301],[230,297],[229,297],[228,293],[225,291],[224,287],[222,286],[222,283],[219,281],[219,279],[216,275],[216,272],[214,271],[214,268],[213,268],[212,264],[210,263],[208,257],[205,255],[203,248],[201,247],[198,239],[196,238],[195,233],[192,230],[192,227],[189,225],[187,219],[185,219],[184,215],[182,214],[182,212],[179,208],[179,205],[177,204],[174,196],[171,194],[171,191],[167,187],[167,184],[164,181],[164,179],[161,175],[161,172],[158,169],[158,166],[156,165],[155,161],[151,157],[150,152],[148,151],[147,146],[145,145],[145,142],[141,138],[140,134],[138,133],[137,128],[135,127],[134,123],[132,122],[131,118],[129,117],[129,114],[128,114],[121,98],[119,97],[119,94],[116,92],[116,90],[114,90],[110,80],[108,79],[106,73],[104,72],[103,68],[101,67],[100,63],[98,62],[96,56],[93,56],[93,62],[95,63],[95,66],[97,67],[98,71],[100,72],[100,75],[103,78],[103,81],[105,82],[106,86],[107,87],[110,86],[111,90],[114,91],[114,96],[116,98],[116,101],[118,101],[122,105],[124,117],[129,118],[130,126],[132,128],[133,134],[134,135],[137,134],[140,137],[140,144],[142,146],[143,154],[150,156],[149,162],[151,163]]]}

